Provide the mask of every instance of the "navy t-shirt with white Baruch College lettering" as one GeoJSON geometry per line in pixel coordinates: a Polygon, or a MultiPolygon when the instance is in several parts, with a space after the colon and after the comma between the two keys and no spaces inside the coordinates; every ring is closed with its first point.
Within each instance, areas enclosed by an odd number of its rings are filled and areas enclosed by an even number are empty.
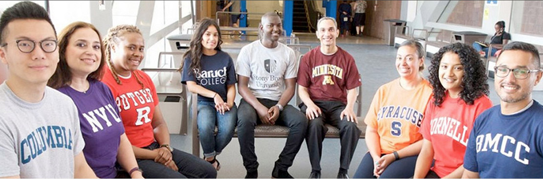
{"type": "MultiPolygon", "coordinates": [[[[224,51],[217,51],[213,56],[202,55],[200,59],[200,70],[190,71],[191,58],[186,57],[183,62],[181,83],[187,81],[217,92],[226,101],[227,85],[236,84],[236,70],[230,55],[224,51]]],[[[198,101],[213,102],[213,98],[198,95],[198,101]]]]}

